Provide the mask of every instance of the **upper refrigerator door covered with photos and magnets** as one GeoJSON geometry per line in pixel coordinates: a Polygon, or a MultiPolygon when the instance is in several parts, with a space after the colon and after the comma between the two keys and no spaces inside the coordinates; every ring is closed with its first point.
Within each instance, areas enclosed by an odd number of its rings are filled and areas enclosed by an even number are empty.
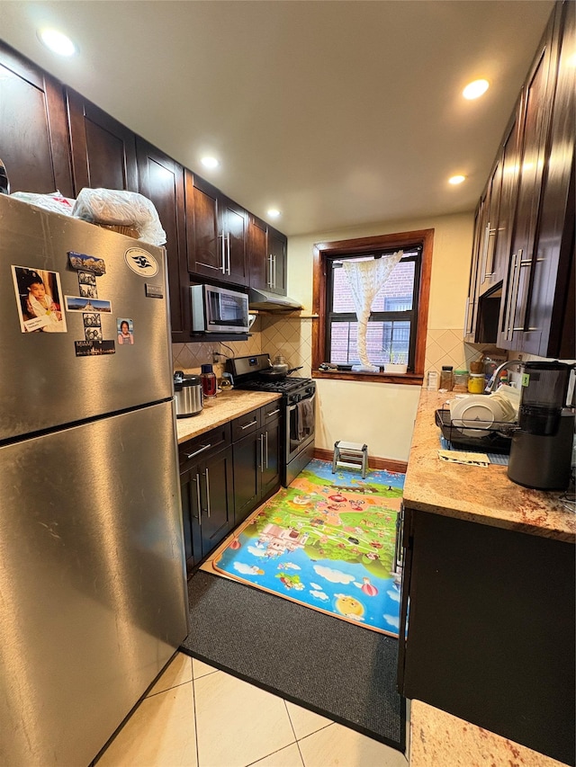
{"type": "Polygon", "coordinates": [[[0,195],[0,441],[172,397],[165,258],[164,248],[0,195]],[[105,273],[91,276],[98,264],[85,259],[76,270],[69,252],[102,259],[105,273]],[[27,319],[33,272],[62,322],[27,319]],[[88,308],[67,310],[77,299],[88,308]],[[121,320],[133,343],[119,343],[121,320]],[[24,332],[39,321],[47,325],[24,332]],[[87,353],[98,334],[114,353],[87,353]]]}

